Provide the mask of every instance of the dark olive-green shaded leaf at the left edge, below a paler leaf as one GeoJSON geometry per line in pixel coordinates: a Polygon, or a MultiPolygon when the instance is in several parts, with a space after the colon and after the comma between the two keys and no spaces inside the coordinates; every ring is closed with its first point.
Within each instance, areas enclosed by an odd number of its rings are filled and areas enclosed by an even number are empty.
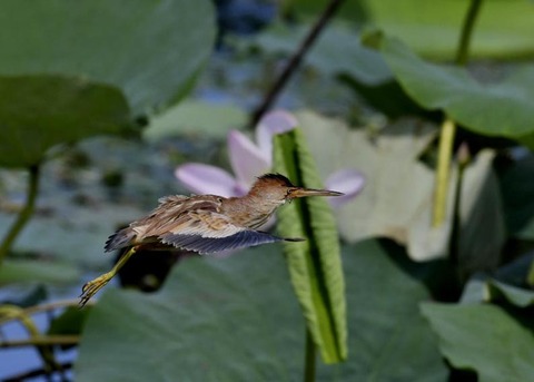
{"type": "Polygon", "coordinates": [[[29,167],[47,150],[132,123],[122,94],[59,76],[0,77],[0,166],[29,167]]]}

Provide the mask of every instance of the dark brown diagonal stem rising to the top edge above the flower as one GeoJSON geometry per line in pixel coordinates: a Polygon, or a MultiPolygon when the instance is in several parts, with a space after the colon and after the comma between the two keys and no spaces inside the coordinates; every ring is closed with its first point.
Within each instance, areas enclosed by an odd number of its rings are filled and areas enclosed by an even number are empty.
{"type": "Polygon", "coordinates": [[[316,21],[316,23],[312,27],[306,38],[300,43],[300,47],[295,51],[291,56],[289,61],[287,62],[286,67],[281,71],[280,76],[276,79],[273,87],[267,92],[264,101],[253,111],[249,127],[254,128],[256,124],[259,121],[261,116],[273,106],[274,101],[281,92],[284,87],[286,86],[289,78],[297,70],[303,61],[304,56],[312,48],[314,42],[317,40],[317,37],[326,27],[328,21],[336,14],[337,10],[342,6],[345,0],[330,0],[328,6],[326,6],[325,11],[320,14],[320,18],[316,21]]]}

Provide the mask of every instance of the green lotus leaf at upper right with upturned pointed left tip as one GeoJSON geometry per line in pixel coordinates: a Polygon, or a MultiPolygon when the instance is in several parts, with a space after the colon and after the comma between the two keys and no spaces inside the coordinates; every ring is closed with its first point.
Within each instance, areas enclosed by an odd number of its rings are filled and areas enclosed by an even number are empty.
{"type": "Polygon", "coordinates": [[[421,106],[443,110],[465,128],[534,147],[534,67],[498,84],[482,85],[465,69],[431,63],[400,41],[384,37],[384,57],[405,91],[421,106]]]}

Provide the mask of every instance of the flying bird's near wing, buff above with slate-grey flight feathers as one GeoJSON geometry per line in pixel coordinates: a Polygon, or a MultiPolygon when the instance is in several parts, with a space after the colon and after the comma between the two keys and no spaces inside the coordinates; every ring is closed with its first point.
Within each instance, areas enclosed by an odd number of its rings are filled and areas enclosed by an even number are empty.
{"type": "Polygon", "coordinates": [[[199,254],[238,249],[284,241],[265,232],[235,225],[212,210],[195,210],[178,219],[177,225],[159,236],[164,244],[199,254]],[[180,221],[180,222],[178,222],[180,221]]]}

